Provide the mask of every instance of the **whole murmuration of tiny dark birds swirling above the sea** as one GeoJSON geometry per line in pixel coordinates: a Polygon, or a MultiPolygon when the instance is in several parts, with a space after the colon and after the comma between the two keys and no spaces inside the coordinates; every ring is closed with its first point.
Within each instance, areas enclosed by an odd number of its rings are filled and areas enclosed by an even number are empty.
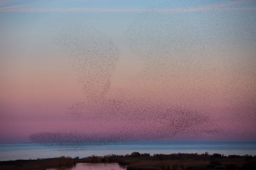
{"type": "MultiPolygon", "coordinates": [[[[170,3],[155,8],[168,7],[170,3]]],[[[181,78],[197,74],[188,69],[197,69],[202,74],[207,74],[203,67],[191,68],[192,60],[197,65],[199,62],[201,65],[206,62],[200,53],[205,42],[200,36],[201,32],[195,32],[195,24],[179,20],[178,15],[153,9],[140,14],[125,32],[130,50],[144,62],[143,70],[136,75],[137,78],[153,83],[175,84],[182,82],[177,77],[177,72],[181,78]],[[178,21],[176,23],[172,22],[175,17],[178,21]],[[187,56],[188,51],[195,52],[196,57],[187,56]],[[174,79],[180,82],[173,82],[174,79]]],[[[74,101],[68,108],[68,113],[77,120],[98,121],[95,126],[115,120],[116,126],[110,125],[101,132],[87,132],[89,127],[84,125],[80,132],[36,133],[31,136],[32,142],[48,145],[61,143],[63,146],[70,142],[87,142],[88,147],[91,147],[92,144],[102,146],[113,142],[185,140],[203,133],[229,133],[216,126],[214,116],[195,108],[161,105],[159,101],[147,100],[136,93],[131,99],[122,93],[108,95],[119,50],[105,33],[88,26],[66,26],[55,35],[55,43],[69,57],[85,97],[84,101],[74,101]],[[134,127],[138,130],[134,131],[134,127]]],[[[172,87],[166,90],[172,91],[172,87]]]]}

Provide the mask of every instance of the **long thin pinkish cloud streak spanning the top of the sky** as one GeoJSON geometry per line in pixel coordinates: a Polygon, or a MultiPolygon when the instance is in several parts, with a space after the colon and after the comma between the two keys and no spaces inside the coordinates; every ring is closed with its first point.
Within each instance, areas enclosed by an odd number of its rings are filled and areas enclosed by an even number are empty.
{"type": "Polygon", "coordinates": [[[255,10],[255,7],[236,7],[227,6],[243,5],[252,3],[255,0],[233,0],[223,3],[215,3],[203,6],[195,6],[190,8],[166,8],[166,9],[143,9],[143,8],[33,8],[24,5],[9,6],[0,8],[0,11],[16,11],[16,12],[142,12],[142,11],[158,11],[158,12],[191,12],[206,11],[213,9],[221,10],[255,10]],[[224,8],[225,7],[225,8],[224,8]]]}

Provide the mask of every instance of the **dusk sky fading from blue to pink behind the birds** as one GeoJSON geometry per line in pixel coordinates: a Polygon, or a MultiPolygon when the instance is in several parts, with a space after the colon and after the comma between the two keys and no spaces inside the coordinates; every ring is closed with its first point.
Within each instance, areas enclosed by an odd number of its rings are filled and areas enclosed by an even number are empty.
{"type": "Polygon", "coordinates": [[[70,129],[138,135],[163,130],[163,123],[151,119],[137,125],[120,115],[67,115],[74,101],[84,100],[68,59],[71,47],[64,53],[54,43],[70,25],[91,26],[116,44],[119,59],[107,99],[193,108],[225,131],[199,134],[197,140],[255,141],[255,16],[254,0],[1,0],[0,142],[70,129]]]}

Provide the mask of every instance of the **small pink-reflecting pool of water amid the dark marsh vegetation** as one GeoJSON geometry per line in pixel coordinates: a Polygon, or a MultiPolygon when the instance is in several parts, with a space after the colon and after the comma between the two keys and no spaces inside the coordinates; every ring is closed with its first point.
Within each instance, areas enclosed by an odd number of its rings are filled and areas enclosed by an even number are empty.
{"type": "Polygon", "coordinates": [[[49,168],[47,170],[125,170],[125,166],[119,164],[76,164],[74,167],[49,168]]]}

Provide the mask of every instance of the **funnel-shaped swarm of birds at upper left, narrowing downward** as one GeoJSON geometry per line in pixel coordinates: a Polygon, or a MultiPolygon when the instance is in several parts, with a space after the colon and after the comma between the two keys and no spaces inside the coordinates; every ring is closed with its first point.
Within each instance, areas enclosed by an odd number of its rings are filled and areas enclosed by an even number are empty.
{"type": "Polygon", "coordinates": [[[119,59],[111,38],[93,27],[79,25],[65,26],[54,37],[70,59],[85,97],[95,100],[106,94],[119,59]]]}

